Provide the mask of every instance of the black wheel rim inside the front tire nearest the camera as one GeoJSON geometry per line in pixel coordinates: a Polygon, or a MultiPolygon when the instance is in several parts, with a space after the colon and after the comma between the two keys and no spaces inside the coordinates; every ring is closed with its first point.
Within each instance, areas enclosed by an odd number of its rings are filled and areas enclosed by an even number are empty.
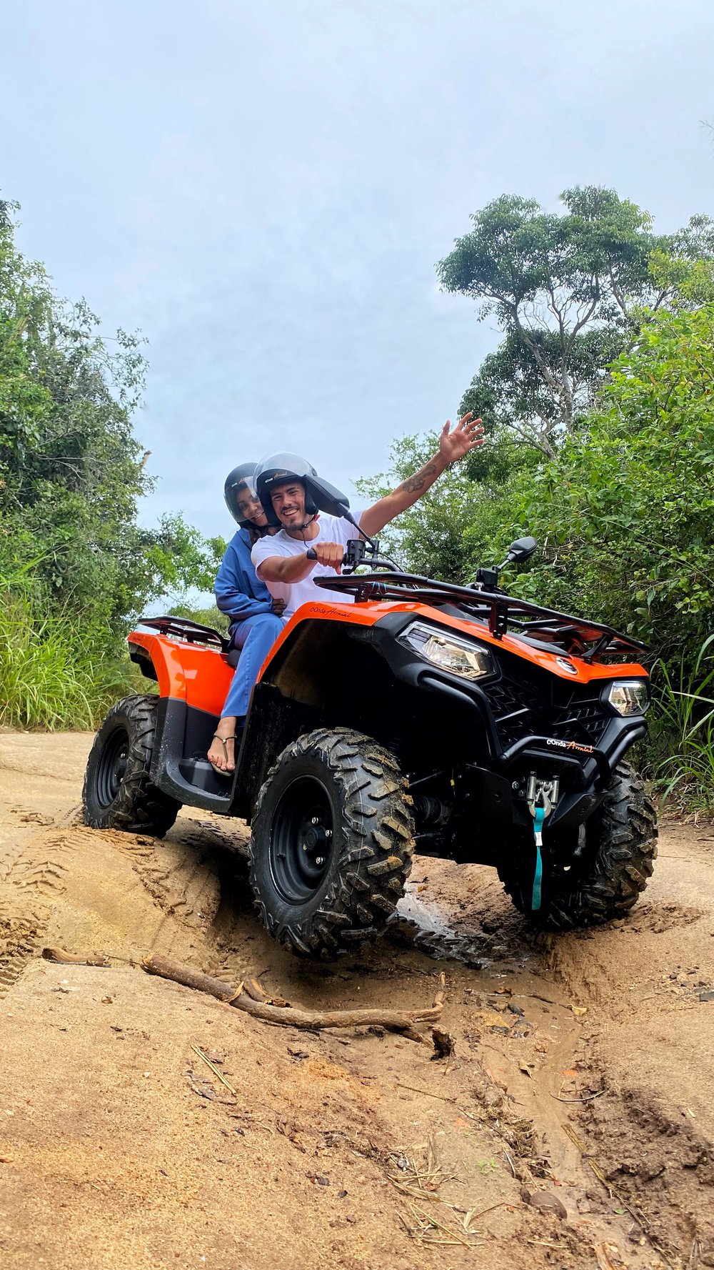
{"type": "Polygon", "coordinates": [[[303,776],[288,785],[273,814],[270,872],[288,904],[306,904],[320,892],[334,851],[334,818],[321,781],[303,776]]]}

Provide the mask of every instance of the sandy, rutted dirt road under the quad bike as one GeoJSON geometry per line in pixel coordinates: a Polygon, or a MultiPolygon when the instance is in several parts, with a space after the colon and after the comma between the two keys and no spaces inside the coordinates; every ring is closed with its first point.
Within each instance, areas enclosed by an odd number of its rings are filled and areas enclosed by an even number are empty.
{"type": "Polygon", "coordinates": [[[90,742],[0,734],[3,1266],[714,1266],[710,828],[667,824],[630,919],[564,937],[417,859],[389,939],[316,968],[259,925],[240,822],[86,829],[90,742]],[[454,1053],[256,1022],[151,951],[312,1008],[445,970],[454,1053]]]}

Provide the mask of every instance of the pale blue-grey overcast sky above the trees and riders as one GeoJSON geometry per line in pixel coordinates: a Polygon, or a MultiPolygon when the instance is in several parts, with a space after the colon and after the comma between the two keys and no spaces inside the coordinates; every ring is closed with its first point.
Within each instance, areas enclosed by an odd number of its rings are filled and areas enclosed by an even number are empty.
{"type": "Polygon", "coordinates": [[[148,339],[156,493],[228,536],[227,471],[328,480],[454,418],[497,343],[434,264],[502,193],[711,213],[711,0],[23,0],[0,44],[20,249],[148,339]]]}

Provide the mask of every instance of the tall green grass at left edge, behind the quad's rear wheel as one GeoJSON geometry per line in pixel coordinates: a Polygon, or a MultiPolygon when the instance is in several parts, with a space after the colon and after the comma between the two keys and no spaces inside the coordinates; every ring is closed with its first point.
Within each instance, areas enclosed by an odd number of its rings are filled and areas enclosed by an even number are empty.
{"type": "MultiPolygon", "coordinates": [[[[16,582],[16,579],[15,579],[16,582]]],[[[0,725],[94,728],[132,691],[131,663],[75,616],[38,612],[32,592],[0,596],[0,725]]]]}

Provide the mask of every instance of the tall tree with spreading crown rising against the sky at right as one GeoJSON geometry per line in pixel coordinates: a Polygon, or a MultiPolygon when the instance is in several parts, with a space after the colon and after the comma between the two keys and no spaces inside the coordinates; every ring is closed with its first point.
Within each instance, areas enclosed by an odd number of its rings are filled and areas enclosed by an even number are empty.
{"type": "Polygon", "coordinates": [[[462,409],[548,457],[592,408],[643,310],[673,297],[700,302],[714,259],[708,217],[656,236],[649,213],[615,190],[587,185],[561,197],[562,215],[534,199],[497,198],[438,265],[441,287],[477,300],[479,320],[493,315],[505,337],[462,409]]]}

